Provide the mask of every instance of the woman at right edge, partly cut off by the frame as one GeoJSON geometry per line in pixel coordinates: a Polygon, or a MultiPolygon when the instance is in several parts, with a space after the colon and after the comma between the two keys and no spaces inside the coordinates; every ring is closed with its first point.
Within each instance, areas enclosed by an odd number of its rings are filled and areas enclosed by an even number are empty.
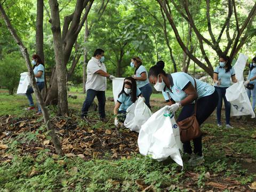
{"type": "Polygon", "coordinates": [[[244,82],[244,86],[246,86],[246,92],[251,100],[252,95],[252,108],[255,110],[256,105],[256,57],[252,59],[252,63],[246,63],[246,66],[249,67],[249,75],[247,77],[247,81],[244,82]]]}

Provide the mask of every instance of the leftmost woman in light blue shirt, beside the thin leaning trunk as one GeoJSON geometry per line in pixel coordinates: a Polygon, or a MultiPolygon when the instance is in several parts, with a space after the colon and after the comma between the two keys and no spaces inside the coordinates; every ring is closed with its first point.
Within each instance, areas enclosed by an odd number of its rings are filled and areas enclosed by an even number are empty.
{"type": "MultiPolygon", "coordinates": [[[[41,91],[44,88],[44,63],[42,62],[41,58],[37,54],[34,54],[32,56],[31,63],[33,65],[33,70],[34,70],[34,74],[36,77],[36,84],[37,84],[39,90],[41,91]]],[[[33,101],[31,93],[34,93],[34,90],[32,89],[31,86],[29,86],[27,93],[26,93],[26,96],[29,101],[29,107],[26,108],[26,110],[35,109],[35,105],[34,105],[34,101],[33,101]]],[[[37,103],[37,106],[38,106],[38,112],[36,114],[41,115],[42,111],[41,111],[41,108],[38,103],[37,103]]]]}

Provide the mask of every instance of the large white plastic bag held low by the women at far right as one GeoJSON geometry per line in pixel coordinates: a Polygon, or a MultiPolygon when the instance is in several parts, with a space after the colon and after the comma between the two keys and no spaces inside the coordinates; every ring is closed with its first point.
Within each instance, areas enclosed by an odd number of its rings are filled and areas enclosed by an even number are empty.
{"type": "Polygon", "coordinates": [[[231,104],[230,116],[251,115],[252,118],[255,118],[243,82],[238,82],[228,87],[226,98],[231,104]]]}

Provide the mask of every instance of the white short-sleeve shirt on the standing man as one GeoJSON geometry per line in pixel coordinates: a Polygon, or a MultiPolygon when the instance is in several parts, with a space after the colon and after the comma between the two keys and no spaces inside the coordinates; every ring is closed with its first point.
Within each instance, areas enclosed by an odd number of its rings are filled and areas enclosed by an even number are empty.
{"type": "Polygon", "coordinates": [[[96,72],[103,70],[107,72],[106,66],[99,59],[92,57],[87,64],[87,80],[85,84],[86,91],[89,89],[95,91],[106,91],[107,89],[107,77],[100,76],[96,72]]]}

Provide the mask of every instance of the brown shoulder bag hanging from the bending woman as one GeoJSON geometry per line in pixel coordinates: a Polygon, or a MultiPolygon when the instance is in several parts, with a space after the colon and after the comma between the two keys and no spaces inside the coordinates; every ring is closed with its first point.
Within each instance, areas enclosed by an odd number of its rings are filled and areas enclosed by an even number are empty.
{"type": "MultiPolygon", "coordinates": [[[[195,81],[195,78],[194,78],[195,81]]],[[[197,91],[196,81],[195,89],[197,91]]],[[[187,142],[201,136],[200,125],[196,119],[196,108],[197,108],[197,99],[195,100],[195,112],[192,116],[183,119],[177,124],[180,127],[180,140],[181,142],[187,142]]]]}

